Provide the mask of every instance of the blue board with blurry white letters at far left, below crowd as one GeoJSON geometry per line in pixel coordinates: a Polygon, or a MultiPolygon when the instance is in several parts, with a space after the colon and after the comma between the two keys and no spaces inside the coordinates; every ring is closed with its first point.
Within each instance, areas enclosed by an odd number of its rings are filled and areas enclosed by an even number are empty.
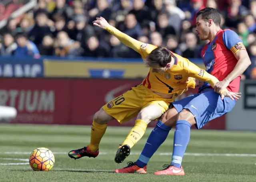
{"type": "Polygon", "coordinates": [[[41,59],[0,59],[0,76],[2,77],[43,77],[44,66],[41,59]]]}

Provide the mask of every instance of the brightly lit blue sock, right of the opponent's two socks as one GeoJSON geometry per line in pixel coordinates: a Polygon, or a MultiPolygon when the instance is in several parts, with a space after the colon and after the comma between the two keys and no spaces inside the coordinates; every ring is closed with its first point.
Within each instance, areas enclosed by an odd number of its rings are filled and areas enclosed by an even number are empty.
{"type": "Polygon", "coordinates": [[[177,168],[181,167],[182,157],[190,139],[190,128],[191,124],[188,121],[180,120],[176,122],[171,165],[177,168]]]}

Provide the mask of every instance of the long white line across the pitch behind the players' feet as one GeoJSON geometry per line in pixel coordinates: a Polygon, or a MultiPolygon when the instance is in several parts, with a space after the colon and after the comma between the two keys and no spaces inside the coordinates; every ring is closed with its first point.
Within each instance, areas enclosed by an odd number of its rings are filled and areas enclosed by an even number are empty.
{"type": "MultiPolygon", "coordinates": [[[[4,152],[4,154],[28,155],[30,152],[4,152]]],[[[54,152],[55,155],[68,155],[67,152],[54,152]]],[[[116,152],[100,152],[100,155],[113,155],[116,152]]],[[[130,155],[140,155],[139,152],[130,155]]],[[[155,155],[172,155],[172,153],[156,153],[155,155]]],[[[256,157],[256,154],[220,154],[220,153],[185,153],[187,156],[225,156],[225,157],[256,157]]]]}

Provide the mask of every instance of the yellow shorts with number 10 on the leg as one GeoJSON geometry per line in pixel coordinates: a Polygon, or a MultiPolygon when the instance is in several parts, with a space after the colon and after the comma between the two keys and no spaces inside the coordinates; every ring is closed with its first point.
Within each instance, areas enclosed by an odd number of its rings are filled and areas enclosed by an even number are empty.
{"type": "Polygon", "coordinates": [[[164,114],[171,102],[174,102],[174,100],[162,98],[145,86],[139,85],[132,87],[131,90],[108,102],[102,108],[108,115],[114,117],[122,124],[135,117],[140,110],[150,104],[159,106],[164,114]]]}

